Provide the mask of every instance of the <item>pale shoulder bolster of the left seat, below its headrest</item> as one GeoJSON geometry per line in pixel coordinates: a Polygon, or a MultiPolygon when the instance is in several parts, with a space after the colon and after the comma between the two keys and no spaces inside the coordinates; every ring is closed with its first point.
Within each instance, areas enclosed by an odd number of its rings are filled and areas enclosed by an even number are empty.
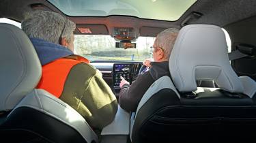
{"type": "Polygon", "coordinates": [[[76,129],[87,142],[98,142],[96,133],[89,127],[83,116],[68,104],[51,95],[51,93],[42,89],[34,89],[20,101],[14,110],[21,107],[33,108],[48,116],[52,116],[73,129],[76,129]]]}

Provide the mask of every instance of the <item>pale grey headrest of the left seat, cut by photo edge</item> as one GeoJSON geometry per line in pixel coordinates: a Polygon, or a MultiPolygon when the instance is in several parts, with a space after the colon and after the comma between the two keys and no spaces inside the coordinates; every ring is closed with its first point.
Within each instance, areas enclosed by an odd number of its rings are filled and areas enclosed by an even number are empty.
{"type": "Polygon", "coordinates": [[[0,23],[0,111],[12,110],[38,84],[42,67],[29,37],[0,23]]]}

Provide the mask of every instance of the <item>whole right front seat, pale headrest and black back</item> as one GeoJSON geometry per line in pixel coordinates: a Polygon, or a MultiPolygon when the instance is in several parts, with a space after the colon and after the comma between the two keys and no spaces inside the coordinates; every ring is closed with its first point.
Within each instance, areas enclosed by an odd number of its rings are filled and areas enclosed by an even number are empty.
{"type": "Polygon", "coordinates": [[[133,143],[256,142],[256,83],[233,72],[220,27],[183,27],[169,68],[171,78],[156,80],[132,116],[133,143]],[[219,88],[197,88],[196,80],[219,88]]]}

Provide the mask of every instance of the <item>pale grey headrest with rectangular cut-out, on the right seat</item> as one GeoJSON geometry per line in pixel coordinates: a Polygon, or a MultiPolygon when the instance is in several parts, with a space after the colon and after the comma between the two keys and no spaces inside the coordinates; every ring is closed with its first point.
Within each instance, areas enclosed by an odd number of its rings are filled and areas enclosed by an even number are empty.
{"type": "Polygon", "coordinates": [[[197,90],[196,80],[215,80],[231,93],[244,91],[229,63],[225,33],[214,25],[183,27],[171,52],[169,68],[180,92],[197,90]]]}

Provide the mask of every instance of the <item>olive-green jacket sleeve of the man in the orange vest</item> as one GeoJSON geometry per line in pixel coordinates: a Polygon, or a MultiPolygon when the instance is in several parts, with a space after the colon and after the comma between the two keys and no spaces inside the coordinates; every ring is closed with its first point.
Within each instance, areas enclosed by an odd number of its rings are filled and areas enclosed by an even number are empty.
{"type": "Polygon", "coordinates": [[[115,117],[117,99],[98,69],[87,63],[74,65],[60,99],[77,110],[95,129],[102,129],[115,117]]]}

